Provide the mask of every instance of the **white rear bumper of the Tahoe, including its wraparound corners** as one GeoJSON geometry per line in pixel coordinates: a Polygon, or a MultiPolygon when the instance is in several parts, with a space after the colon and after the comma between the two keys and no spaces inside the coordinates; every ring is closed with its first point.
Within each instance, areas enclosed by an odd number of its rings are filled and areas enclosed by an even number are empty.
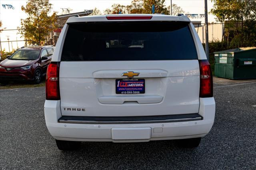
{"type": "Polygon", "coordinates": [[[59,123],[58,120],[62,117],[60,101],[48,100],[44,104],[44,114],[50,134],[58,140],[146,142],[205,136],[214,123],[215,101],[213,97],[200,98],[198,114],[203,119],[196,121],[129,124],[59,123]]]}

